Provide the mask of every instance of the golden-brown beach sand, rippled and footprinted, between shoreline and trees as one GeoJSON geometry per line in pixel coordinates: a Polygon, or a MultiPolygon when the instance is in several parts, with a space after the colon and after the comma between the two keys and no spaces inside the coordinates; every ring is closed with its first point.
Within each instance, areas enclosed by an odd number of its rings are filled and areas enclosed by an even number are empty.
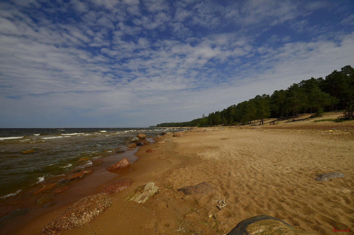
{"type": "MultiPolygon", "coordinates": [[[[139,160],[123,176],[133,179],[133,185],[110,194],[112,207],[89,225],[57,234],[222,235],[241,220],[260,214],[314,234],[332,234],[333,228],[354,231],[354,122],[314,123],[313,119],[303,121],[304,117],[278,125],[267,123],[262,130],[212,127],[185,132],[182,137],[160,137],[157,141],[165,143],[139,149],[139,160]],[[145,153],[150,148],[155,152],[145,153]],[[314,180],[315,175],[330,172],[345,177],[314,180]],[[203,181],[217,192],[177,192],[203,181]],[[146,203],[122,200],[148,182],[155,182],[160,192],[146,203]],[[222,210],[213,202],[218,194],[229,203],[222,210]]],[[[318,119],[323,118],[329,117],[318,119]]],[[[16,233],[39,234],[64,209],[16,233]]]]}

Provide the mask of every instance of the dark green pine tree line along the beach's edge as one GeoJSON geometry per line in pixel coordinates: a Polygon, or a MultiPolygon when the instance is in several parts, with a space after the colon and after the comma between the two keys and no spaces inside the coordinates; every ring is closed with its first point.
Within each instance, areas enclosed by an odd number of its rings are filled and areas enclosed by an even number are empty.
{"type": "Polygon", "coordinates": [[[214,126],[250,124],[259,120],[263,124],[268,117],[281,118],[297,116],[301,113],[320,115],[324,111],[343,110],[353,107],[354,69],[344,66],[341,71],[333,71],[325,79],[310,78],[294,83],[286,90],[274,91],[272,95],[256,95],[222,111],[202,115],[188,122],[167,122],[156,127],[214,126]]]}

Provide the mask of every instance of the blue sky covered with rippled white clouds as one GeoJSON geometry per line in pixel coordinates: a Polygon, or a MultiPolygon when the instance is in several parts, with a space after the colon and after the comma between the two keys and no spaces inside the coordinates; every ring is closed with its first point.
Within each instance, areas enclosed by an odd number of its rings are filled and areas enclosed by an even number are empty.
{"type": "Polygon", "coordinates": [[[184,122],[354,67],[354,1],[0,1],[0,127],[184,122]]]}

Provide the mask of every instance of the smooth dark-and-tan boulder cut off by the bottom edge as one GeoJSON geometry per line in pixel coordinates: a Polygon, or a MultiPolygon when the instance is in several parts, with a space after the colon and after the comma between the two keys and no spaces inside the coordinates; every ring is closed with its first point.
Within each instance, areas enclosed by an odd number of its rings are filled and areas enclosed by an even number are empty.
{"type": "Polygon", "coordinates": [[[291,225],[269,215],[257,215],[242,220],[228,235],[256,234],[293,234],[310,235],[307,231],[293,228],[291,225]]]}

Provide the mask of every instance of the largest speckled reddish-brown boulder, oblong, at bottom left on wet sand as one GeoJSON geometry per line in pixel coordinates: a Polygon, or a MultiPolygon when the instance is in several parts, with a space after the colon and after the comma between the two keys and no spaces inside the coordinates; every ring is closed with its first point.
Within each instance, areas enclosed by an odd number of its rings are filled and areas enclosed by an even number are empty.
{"type": "Polygon", "coordinates": [[[42,229],[42,234],[52,234],[56,231],[74,229],[89,224],[112,205],[112,199],[107,193],[97,193],[82,198],[71,207],[52,219],[42,229]]]}

